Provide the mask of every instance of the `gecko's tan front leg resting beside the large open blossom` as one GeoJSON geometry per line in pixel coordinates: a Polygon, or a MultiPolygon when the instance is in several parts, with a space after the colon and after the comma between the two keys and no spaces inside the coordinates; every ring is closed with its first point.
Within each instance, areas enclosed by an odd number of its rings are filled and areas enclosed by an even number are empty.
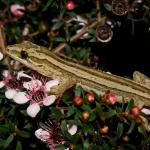
{"type": "Polygon", "coordinates": [[[57,97],[61,97],[62,94],[68,90],[69,88],[76,85],[77,81],[74,77],[69,75],[64,75],[59,78],[59,84],[57,86],[54,86],[50,93],[56,95],[57,97]]]}

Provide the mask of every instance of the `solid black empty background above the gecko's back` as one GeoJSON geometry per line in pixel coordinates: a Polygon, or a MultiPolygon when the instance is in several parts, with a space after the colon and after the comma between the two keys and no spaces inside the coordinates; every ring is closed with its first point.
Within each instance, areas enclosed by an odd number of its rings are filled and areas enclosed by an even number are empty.
{"type": "Polygon", "coordinates": [[[136,22],[132,35],[131,21],[114,29],[112,40],[93,45],[100,58],[100,65],[113,74],[132,77],[138,70],[150,77],[150,31],[149,25],[136,22]]]}

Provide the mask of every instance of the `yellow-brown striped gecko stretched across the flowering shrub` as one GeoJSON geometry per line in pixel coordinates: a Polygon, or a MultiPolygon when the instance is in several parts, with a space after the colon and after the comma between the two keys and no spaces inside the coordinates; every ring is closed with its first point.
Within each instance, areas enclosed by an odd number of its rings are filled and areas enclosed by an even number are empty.
{"type": "MultiPolygon", "coordinates": [[[[141,82],[67,61],[46,47],[29,41],[8,45],[6,49],[7,55],[15,61],[44,76],[58,79],[59,85],[51,91],[57,96],[62,96],[67,89],[80,85],[83,89],[99,95],[110,90],[116,94],[118,102],[133,99],[139,107],[150,106],[150,86],[141,82]]],[[[139,75],[138,72],[134,73],[134,78],[139,79],[136,75],[139,75]]]]}

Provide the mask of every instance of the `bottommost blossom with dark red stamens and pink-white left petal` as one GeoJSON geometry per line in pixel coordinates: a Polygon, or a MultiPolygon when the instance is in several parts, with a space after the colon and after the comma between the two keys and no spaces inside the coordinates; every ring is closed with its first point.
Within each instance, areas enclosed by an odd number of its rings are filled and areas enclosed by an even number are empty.
{"type": "Polygon", "coordinates": [[[35,131],[35,136],[48,144],[50,150],[55,150],[55,146],[64,143],[64,133],[59,122],[48,121],[35,131]]]}

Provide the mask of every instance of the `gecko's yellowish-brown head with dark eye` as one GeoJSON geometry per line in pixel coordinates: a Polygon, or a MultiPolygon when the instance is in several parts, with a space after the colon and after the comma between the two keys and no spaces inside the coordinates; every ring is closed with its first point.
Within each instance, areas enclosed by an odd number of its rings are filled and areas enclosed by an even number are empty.
{"type": "Polygon", "coordinates": [[[28,41],[7,46],[7,54],[25,65],[29,64],[30,58],[35,56],[38,51],[40,51],[40,46],[28,41]]]}

